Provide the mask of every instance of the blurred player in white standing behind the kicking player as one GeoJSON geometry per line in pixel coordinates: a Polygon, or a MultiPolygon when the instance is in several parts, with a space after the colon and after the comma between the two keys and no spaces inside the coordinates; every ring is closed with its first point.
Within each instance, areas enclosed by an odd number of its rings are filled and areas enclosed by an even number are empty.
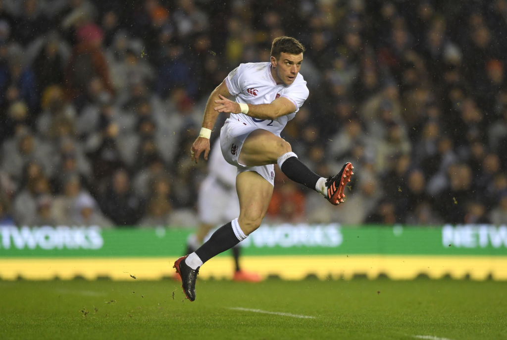
{"type": "MultiPolygon", "coordinates": [[[[229,164],[222,155],[220,141],[216,140],[209,154],[208,176],[202,182],[197,199],[199,229],[189,236],[187,254],[195,252],[203,243],[208,232],[239,216],[239,200],[236,193],[236,166],[229,164]]],[[[262,278],[256,273],[242,270],[239,265],[241,246],[232,249],[234,256],[234,281],[259,282],[262,278]]],[[[179,279],[179,276],[178,276],[179,279]]]]}

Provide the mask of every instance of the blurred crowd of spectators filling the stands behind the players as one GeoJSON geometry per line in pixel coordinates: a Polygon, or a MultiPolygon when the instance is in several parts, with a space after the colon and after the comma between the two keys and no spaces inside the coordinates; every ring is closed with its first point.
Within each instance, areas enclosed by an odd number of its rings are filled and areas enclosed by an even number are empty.
{"type": "Polygon", "coordinates": [[[0,224],[196,226],[208,95],[281,35],[282,137],[356,174],[335,207],[278,172],[266,222],[507,223],[507,0],[0,0],[0,224]]]}

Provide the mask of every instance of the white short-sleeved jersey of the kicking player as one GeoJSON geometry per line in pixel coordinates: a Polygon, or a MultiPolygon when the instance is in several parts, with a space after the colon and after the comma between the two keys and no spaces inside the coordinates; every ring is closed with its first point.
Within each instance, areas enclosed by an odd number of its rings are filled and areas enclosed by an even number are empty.
{"type": "Polygon", "coordinates": [[[287,122],[296,116],[296,112],[299,111],[309,94],[306,81],[300,73],[291,85],[277,85],[271,75],[270,62],[240,64],[229,73],[225,82],[229,93],[236,97],[237,103],[270,104],[278,97],[285,97],[292,101],[296,106],[296,111],[274,120],[252,118],[242,113],[231,113],[231,119],[271,131],[277,136],[280,135],[287,122]]]}

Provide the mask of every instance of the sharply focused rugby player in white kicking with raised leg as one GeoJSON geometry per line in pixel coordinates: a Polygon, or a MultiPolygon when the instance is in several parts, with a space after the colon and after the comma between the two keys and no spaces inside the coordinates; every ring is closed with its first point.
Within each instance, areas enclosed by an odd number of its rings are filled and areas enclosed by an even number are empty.
{"type": "Polygon", "coordinates": [[[195,300],[201,265],[234,247],[261,225],[273,194],[274,164],[289,179],[317,191],[333,205],[345,199],[343,191],[352,176],[351,163],[345,163],[336,176],[326,180],[303,164],[291,145],[280,137],[286,123],[296,116],[308,97],[306,81],[299,74],[304,50],[294,38],[275,38],[269,62],[240,64],[208,98],[201,132],[190,155],[195,162],[201,153],[208,159],[211,129],[220,113],[230,113],[220,132],[220,146],[227,162],[238,168],[240,213],[195,252],[174,262],[183,291],[191,301],[195,300]]]}

